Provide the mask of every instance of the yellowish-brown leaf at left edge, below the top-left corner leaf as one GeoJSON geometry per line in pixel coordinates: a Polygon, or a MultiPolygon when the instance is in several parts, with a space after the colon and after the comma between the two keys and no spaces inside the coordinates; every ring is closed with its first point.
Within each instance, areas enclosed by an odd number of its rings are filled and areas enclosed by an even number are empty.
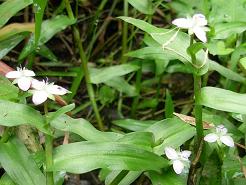
{"type": "Polygon", "coordinates": [[[9,24],[0,29],[0,41],[9,39],[10,37],[23,33],[23,32],[34,32],[33,23],[13,23],[9,24]]]}

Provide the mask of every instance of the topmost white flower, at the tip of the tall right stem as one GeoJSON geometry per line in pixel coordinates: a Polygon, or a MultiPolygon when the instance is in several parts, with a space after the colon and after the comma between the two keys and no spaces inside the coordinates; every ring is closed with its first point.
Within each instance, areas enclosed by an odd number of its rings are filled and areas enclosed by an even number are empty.
{"type": "Polygon", "coordinates": [[[206,27],[208,21],[203,14],[195,14],[192,18],[175,19],[172,24],[179,28],[188,29],[189,35],[194,33],[202,42],[207,42],[206,31],[209,31],[209,28],[206,27]]]}

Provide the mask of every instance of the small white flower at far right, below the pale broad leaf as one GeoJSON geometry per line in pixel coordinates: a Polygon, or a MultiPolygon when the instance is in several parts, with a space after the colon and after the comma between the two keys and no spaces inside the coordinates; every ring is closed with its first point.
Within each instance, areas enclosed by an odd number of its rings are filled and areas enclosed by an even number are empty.
{"type": "Polygon", "coordinates": [[[224,125],[218,125],[216,127],[215,133],[210,133],[204,137],[204,140],[213,143],[213,142],[219,142],[224,143],[225,145],[229,147],[234,147],[234,141],[232,137],[227,134],[227,129],[224,127],[224,125]]]}

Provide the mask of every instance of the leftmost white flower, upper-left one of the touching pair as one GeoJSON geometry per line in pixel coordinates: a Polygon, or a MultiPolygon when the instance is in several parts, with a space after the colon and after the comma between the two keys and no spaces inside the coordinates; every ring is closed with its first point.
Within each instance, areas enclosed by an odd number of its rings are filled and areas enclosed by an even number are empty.
{"type": "Polygon", "coordinates": [[[26,68],[17,67],[17,71],[10,71],[5,76],[15,79],[13,84],[17,83],[21,90],[27,91],[31,87],[32,77],[35,76],[35,73],[26,68]]]}

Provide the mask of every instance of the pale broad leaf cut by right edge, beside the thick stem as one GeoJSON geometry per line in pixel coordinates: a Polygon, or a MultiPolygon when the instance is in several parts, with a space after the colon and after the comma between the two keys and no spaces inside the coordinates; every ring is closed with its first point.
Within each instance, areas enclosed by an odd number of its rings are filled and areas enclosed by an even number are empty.
{"type": "Polygon", "coordinates": [[[203,87],[199,104],[221,111],[246,114],[246,94],[216,87],[203,87]]]}

